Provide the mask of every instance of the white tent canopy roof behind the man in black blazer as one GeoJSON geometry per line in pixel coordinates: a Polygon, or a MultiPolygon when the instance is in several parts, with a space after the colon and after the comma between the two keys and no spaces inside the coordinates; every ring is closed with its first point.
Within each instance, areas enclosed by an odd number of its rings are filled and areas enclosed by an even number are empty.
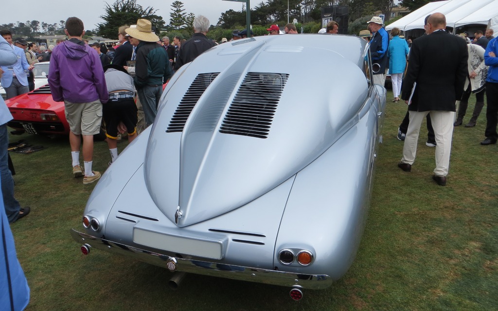
{"type": "Polygon", "coordinates": [[[390,30],[393,27],[398,27],[403,31],[423,29],[425,16],[435,12],[445,14],[448,27],[458,27],[467,24],[488,24],[489,19],[498,14],[498,0],[447,0],[429,2],[386,26],[385,29],[390,30]],[[412,14],[416,14],[416,17],[411,17],[410,15],[412,14]]]}

